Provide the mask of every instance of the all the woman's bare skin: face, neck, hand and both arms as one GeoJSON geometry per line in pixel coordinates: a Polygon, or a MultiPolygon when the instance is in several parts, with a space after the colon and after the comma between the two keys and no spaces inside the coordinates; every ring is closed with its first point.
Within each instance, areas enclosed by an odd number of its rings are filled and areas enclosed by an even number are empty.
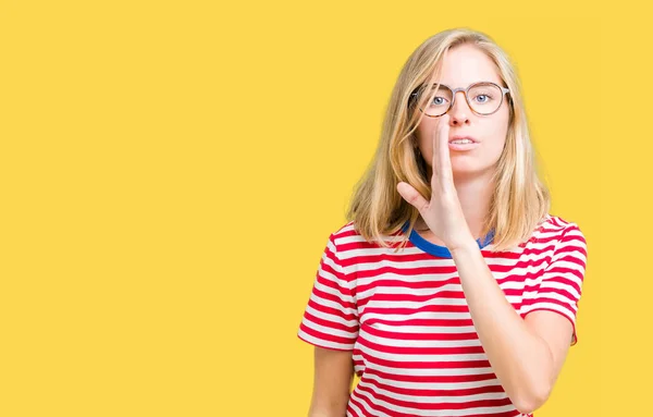
{"type": "MultiPolygon", "coordinates": [[[[492,61],[471,46],[448,51],[440,82],[467,87],[478,81],[502,85],[492,61]]],[[[504,390],[521,413],[532,413],[549,398],[567,356],[571,323],[551,311],[515,314],[482,257],[476,238],[489,209],[489,182],[505,144],[507,101],[492,115],[471,112],[463,93],[446,115],[424,116],[417,130],[427,161],[432,194],[424,199],[409,184],[397,192],[420,212],[424,238],[446,246],[459,272],[463,291],[479,339],[504,390]],[[472,151],[448,148],[456,134],[481,142],[472,151]],[[435,169],[433,170],[433,167],[435,169]]],[[[353,382],[352,352],[315,347],[315,384],[309,417],[346,414],[353,382]]]]}

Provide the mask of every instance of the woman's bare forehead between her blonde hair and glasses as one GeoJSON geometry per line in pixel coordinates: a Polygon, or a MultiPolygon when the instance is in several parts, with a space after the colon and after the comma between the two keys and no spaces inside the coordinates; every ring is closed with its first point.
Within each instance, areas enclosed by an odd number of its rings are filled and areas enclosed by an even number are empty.
{"type": "Polygon", "coordinates": [[[440,79],[436,81],[452,88],[467,87],[482,81],[502,84],[492,59],[471,45],[461,45],[447,51],[440,79]]]}

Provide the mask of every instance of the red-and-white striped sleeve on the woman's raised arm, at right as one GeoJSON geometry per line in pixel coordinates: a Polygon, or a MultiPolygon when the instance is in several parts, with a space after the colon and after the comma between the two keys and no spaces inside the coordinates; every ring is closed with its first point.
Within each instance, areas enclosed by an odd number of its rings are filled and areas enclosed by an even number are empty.
{"type": "Polygon", "coordinates": [[[574,328],[570,345],[578,342],[576,316],[587,268],[587,242],[576,223],[569,223],[556,242],[550,265],[525,296],[521,316],[550,310],[566,317],[574,328]]]}

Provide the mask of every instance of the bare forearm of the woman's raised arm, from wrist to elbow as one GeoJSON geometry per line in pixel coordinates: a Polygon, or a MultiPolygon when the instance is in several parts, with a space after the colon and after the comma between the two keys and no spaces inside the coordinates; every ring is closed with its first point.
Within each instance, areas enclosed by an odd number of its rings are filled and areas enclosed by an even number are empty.
{"type": "Polygon", "coordinates": [[[479,340],[504,390],[530,413],[549,397],[553,357],[506,299],[476,241],[452,250],[479,340]]]}

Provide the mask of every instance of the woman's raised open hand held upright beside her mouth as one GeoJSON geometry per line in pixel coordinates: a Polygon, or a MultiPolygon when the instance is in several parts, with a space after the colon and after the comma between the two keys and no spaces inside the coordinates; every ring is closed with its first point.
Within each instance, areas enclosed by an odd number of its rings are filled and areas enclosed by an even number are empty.
{"type": "Polygon", "coordinates": [[[410,184],[399,182],[397,192],[412,207],[419,210],[422,219],[451,250],[468,245],[473,241],[460,200],[454,185],[452,161],[448,147],[449,115],[444,114],[433,133],[433,175],[431,176],[431,199],[427,200],[410,184]]]}

